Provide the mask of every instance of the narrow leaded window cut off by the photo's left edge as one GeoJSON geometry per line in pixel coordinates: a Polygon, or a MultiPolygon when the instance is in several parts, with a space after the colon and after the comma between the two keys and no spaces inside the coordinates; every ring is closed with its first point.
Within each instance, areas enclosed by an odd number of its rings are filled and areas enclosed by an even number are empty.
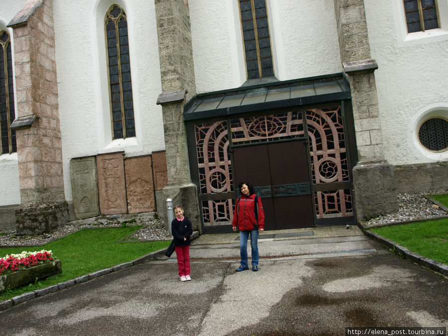
{"type": "Polygon", "coordinates": [[[11,40],[6,30],[0,31],[0,154],[17,151],[15,130],[9,128],[15,119],[12,78],[11,40]]]}

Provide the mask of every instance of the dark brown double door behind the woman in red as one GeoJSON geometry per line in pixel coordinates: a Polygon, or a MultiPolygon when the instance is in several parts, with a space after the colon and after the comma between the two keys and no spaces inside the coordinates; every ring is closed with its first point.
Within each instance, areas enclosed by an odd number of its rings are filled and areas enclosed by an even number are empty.
{"type": "Polygon", "coordinates": [[[250,182],[261,197],[265,229],[314,225],[305,141],[233,149],[235,182],[250,182]]]}

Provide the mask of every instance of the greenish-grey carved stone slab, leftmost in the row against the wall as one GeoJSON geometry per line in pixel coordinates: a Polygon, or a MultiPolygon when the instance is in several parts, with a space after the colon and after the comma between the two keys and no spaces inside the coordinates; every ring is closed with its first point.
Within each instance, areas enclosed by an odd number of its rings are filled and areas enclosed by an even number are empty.
{"type": "Polygon", "coordinates": [[[71,159],[70,181],[76,218],[81,220],[100,215],[95,156],[71,159]]]}

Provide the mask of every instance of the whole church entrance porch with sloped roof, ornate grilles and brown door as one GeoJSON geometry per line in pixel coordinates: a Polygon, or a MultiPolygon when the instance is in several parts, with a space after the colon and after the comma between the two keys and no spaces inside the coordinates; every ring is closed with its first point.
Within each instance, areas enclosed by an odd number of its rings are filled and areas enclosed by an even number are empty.
{"type": "Polygon", "coordinates": [[[198,94],[184,121],[204,233],[230,229],[247,176],[268,229],[353,223],[356,147],[343,74],[198,94]]]}

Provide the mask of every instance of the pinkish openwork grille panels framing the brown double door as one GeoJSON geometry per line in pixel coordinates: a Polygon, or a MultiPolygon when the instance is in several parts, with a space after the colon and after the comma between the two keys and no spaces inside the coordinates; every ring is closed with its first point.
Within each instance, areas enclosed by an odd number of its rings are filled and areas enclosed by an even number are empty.
{"type": "MultiPolygon", "coordinates": [[[[349,181],[341,107],[306,110],[314,184],[349,181]]],[[[262,143],[305,137],[302,112],[250,116],[230,121],[233,144],[262,143]]],[[[199,189],[202,195],[233,191],[226,121],[195,125],[199,189]]],[[[315,192],[317,218],[352,216],[350,190],[315,192]]],[[[202,202],[204,224],[228,224],[233,200],[202,202]]]]}

